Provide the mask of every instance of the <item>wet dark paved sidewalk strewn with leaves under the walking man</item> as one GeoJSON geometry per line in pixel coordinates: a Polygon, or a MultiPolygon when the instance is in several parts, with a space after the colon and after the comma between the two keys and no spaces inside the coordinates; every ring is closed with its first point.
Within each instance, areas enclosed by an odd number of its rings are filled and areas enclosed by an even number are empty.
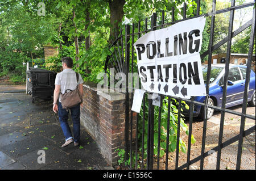
{"type": "MultiPolygon", "coordinates": [[[[0,91],[3,91],[1,87],[0,91]]],[[[81,146],[70,144],[61,148],[65,140],[51,101],[37,100],[32,104],[31,96],[22,92],[0,94],[0,115],[2,170],[111,168],[82,127],[81,146]],[[39,160],[43,161],[39,150],[45,151],[46,163],[38,163],[40,156],[39,160]]]]}

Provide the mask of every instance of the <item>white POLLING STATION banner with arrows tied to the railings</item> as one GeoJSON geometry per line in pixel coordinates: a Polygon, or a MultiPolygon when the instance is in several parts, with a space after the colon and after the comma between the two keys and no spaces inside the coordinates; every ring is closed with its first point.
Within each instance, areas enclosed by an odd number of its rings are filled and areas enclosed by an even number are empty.
{"type": "Polygon", "coordinates": [[[184,20],[134,43],[144,90],[180,98],[206,95],[199,54],[204,25],[204,17],[184,20]]]}

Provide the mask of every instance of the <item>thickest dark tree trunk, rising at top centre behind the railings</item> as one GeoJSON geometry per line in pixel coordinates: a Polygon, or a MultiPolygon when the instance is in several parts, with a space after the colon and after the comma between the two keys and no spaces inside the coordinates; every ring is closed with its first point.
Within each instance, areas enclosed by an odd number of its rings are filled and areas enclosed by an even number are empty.
{"type": "Polygon", "coordinates": [[[123,5],[125,5],[125,0],[109,0],[110,23],[113,26],[110,28],[109,43],[112,42],[112,39],[115,39],[115,32],[119,33],[118,24],[123,18],[123,5]]]}

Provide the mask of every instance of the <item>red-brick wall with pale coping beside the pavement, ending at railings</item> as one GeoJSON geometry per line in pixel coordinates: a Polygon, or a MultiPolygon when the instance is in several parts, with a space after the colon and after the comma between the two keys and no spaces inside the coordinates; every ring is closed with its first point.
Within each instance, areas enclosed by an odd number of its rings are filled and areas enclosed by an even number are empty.
{"type": "MultiPolygon", "coordinates": [[[[84,83],[81,125],[97,142],[106,161],[115,165],[119,159],[115,150],[125,148],[125,94],[97,91],[96,86],[84,83]]],[[[133,142],[136,116],[133,113],[133,142]]]]}

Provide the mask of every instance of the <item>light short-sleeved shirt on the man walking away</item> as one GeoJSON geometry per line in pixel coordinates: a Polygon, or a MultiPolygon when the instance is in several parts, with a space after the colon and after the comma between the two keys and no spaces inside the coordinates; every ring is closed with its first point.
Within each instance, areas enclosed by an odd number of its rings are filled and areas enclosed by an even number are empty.
{"type": "MultiPolygon", "coordinates": [[[[78,85],[83,83],[81,75],[79,74],[78,85]]],[[[76,72],[72,69],[64,69],[60,73],[57,73],[55,78],[55,85],[60,85],[60,92],[64,94],[67,89],[75,90],[77,86],[76,72]]],[[[59,102],[61,102],[61,94],[59,102]]]]}

